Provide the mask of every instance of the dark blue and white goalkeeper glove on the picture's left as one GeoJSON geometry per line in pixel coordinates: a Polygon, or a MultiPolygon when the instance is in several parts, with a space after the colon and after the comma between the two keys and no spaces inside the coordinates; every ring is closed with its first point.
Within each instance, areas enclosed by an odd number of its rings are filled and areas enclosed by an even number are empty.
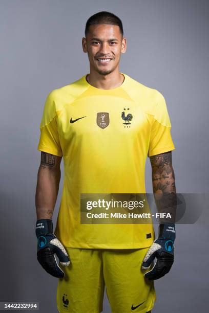
{"type": "Polygon", "coordinates": [[[37,260],[40,265],[54,277],[64,277],[54,254],[59,258],[62,266],[68,266],[70,260],[61,242],[53,234],[53,223],[51,219],[39,219],[36,222],[37,260]]]}

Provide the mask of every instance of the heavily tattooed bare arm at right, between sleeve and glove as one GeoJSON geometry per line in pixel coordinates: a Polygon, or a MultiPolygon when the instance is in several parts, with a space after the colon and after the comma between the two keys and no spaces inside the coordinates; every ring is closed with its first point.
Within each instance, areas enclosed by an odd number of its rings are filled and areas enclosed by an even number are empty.
{"type": "Polygon", "coordinates": [[[160,218],[160,223],[175,223],[177,197],[171,151],[153,155],[150,162],[157,209],[159,212],[170,212],[172,215],[172,219],[160,218]]]}

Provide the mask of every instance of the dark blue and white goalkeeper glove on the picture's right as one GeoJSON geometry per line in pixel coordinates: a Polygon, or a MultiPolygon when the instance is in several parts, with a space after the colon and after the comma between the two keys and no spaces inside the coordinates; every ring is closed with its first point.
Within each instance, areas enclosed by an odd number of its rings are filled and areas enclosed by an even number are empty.
{"type": "Polygon", "coordinates": [[[150,280],[159,279],[169,273],[174,262],[175,238],[175,224],[165,223],[159,225],[159,236],[145,255],[142,270],[149,269],[155,258],[157,258],[157,261],[152,270],[144,275],[145,278],[150,280]]]}

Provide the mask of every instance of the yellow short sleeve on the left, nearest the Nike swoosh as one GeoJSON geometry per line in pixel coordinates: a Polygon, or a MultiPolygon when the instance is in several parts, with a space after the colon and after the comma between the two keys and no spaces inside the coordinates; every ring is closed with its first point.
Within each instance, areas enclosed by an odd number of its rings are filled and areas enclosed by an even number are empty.
{"type": "Polygon", "coordinates": [[[40,122],[40,139],[37,149],[62,157],[54,100],[55,91],[52,91],[45,102],[44,112],[40,122]]]}

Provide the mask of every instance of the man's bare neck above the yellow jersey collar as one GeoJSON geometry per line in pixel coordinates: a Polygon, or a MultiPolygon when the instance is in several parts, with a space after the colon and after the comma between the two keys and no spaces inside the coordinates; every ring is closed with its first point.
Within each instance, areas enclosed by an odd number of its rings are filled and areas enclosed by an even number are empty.
{"type": "Polygon", "coordinates": [[[87,75],[87,81],[90,85],[103,89],[113,89],[119,87],[124,80],[124,76],[117,72],[112,72],[108,75],[101,75],[98,72],[90,71],[90,74],[87,75]]]}

